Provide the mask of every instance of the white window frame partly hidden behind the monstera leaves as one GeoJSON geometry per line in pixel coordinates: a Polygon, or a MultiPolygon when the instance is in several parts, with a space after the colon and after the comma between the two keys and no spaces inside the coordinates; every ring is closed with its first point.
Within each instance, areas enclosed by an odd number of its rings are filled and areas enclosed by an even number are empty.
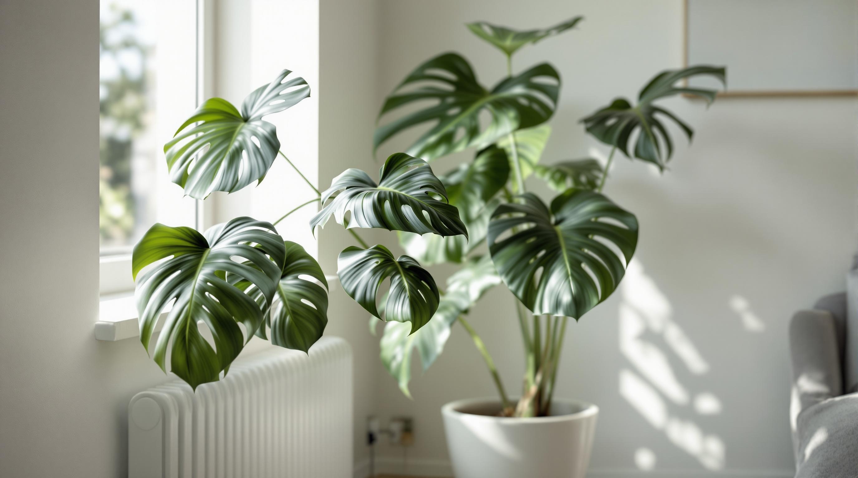
{"type": "MultiPolygon", "coordinates": [[[[195,105],[202,104],[211,96],[215,41],[215,0],[196,0],[196,91],[195,105]]],[[[194,204],[194,227],[204,230],[212,224],[214,212],[202,200],[194,204]]],[[[99,295],[114,298],[127,296],[134,291],[131,277],[131,247],[99,248],[99,295]]]]}

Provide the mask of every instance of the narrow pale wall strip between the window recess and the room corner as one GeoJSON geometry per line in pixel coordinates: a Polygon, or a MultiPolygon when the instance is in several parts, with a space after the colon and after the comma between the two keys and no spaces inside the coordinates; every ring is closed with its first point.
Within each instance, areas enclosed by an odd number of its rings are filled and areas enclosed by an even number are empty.
{"type": "MultiPolygon", "coordinates": [[[[347,168],[360,168],[375,176],[372,130],[378,104],[372,94],[377,81],[377,1],[321,0],[319,2],[319,189],[347,168]]],[[[380,233],[358,230],[369,244],[380,233]]],[[[336,257],[355,245],[352,236],[334,220],[317,232],[319,263],[327,274],[336,273],[336,257]]],[[[330,305],[325,335],[347,338],[354,356],[354,459],[366,462],[366,416],[378,409],[376,367],[378,339],[366,326],[369,314],[330,281],[330,305]]]]}

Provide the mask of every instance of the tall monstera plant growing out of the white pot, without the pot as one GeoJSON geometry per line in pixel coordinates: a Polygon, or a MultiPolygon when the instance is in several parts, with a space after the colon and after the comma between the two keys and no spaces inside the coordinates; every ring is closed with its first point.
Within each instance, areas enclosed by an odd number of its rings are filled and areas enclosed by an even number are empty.
{"type": "MultiPolygon", "coordinates": [[[[413,319],[413,326],[389,319],[384,327],[381,360],[409,397],[414,352],[424,370],[430,367],[458,323],[486,361],[503,405],[502,415],[547,415],[567,321],[581,319],[611,296],[637,247],[637,218],[602,193],[615,153],[663,170],[674,152],[668,125],[673,123],[689,140],[692,128],[659,101],[689,95],[711,103],[715,91],[689,87],[686,81],[693,76],[710,76],[725,83],[725,69],[720,67],[664,71],[644,86],[636,102],[613,99],[581,120],[587,133],[610,148],[606,164],[594,158],[542,162],[541,154],[551,134],[547,122],[558,106],[560,75],[549,63],[517,72],[512,57],[523,46],[570,30],[580,21],[581,17],[575,17],[555,27],[524,32],[482,21],[470,23],[467,27],[471,32],[503,52],[507,66],[504,78],[486,87],[465,57],[448,52],[420,64],[384,101],[374,135],[377,151],[394,136],[411,129],[420,130],[407,149],[415,158],[432,161],[466,149],[474,151],[473,160],[435,181],[420,182],[421,188],[436,196],[433,200],[445,199],[444,211],[453,209],[451,206],[458,209],[456,227],[463,224],[464,230],[440,227],[434,221],[444,222],[451,216],[420,212],[420,207],[405,218],[414,225],[390,227],[403,225],[394,216],[399,212],[398,202],[391,200],[390,206],[384,207],[375,202],[381,193],[375,192],[376,186],[368,177],[349,173],[354,177],[335,181],[335,186],[339,182],[354,184],[360,191],[341,203],[352,204],[353,197],[363,194],[365,216],[352,208],[353,224],[349,227],[366,224],[402,231],[398,233],[400,244],[409,254],[408,260],[401,259],[402,266],[396,267],[386,248],[372,253],[344,251],[347,265],[372,256],[385,271],[372,276],[372,286],[353,284],[360,281],[349,277],[343,284],[347,290],[372,297],[384,273],[404,274],[408,267],[416,267],[417,261],[424,266],[459,265],[437,300],[435,284],[420,284],[414,279],[414,289],[420,295],[433,296],[432,303],[438,303],[426,325],[417,329],[416,325],[424,324],[420,316],[419,321],[413,319]],[[524,180],[531,175],[543,179],[558,194],[543,200],[528,192],[524,180]],[[492,356],[466,319],[480,297],[500,284],[515,297],[526,354],[523,391],[517,403],[507,395],[492,356]]],[[[420,162],[420,168],[429,166],[420,162]]],[[[335,206],[337,202],[328,207],[341,211],[342,206],[335,206]]],[[[321,215],[325,214],[323,210],[321,215]]],[[[428,277],[424,269],[420,272],[428,277]]],[[[393,297],[397,300],[392,307],[400,306],[401,295],[398,290],[396,296],[391,294],[389,311],[393,297]]],[[[378,317],[374,304],[366,304],[365,308],[378,317]]]]}

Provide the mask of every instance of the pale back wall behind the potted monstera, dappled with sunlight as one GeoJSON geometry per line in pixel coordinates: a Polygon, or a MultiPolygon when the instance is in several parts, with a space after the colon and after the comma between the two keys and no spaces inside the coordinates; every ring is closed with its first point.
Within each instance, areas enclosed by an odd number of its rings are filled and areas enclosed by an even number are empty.
{"type": "MultiPolygon", "coordinates": [[[[544,27],[584,15],[575,31],[526,47],[514,60],[517,70],[548,60],[563,79],[545,162],[594,148],[604,158],[607,148],[585,136],[578,119],[615,96],[636,98],[652,75],[681,64],[680,0],[383,0],[380,15],[378,105],[414,66],[443,51],[468,57],[484,84],[504,75],[504,57],[469,33],[466,21],[544,27]]],[[[637,452],[655,456],[656,470],[684,476],[707,466],[787,476],[786,326],[796,309],[843,289],[855,250],[858,102],[719,99],[708,111],[687,99],[666,105],[696,129],[693,147],[674,130],[680,146],[664,176],[616,161],[606,192],[637,214],[643,267],[570,324],[558,394],[601,407],[593,475],[631,473],[637,452]],[[701,394],[704,408],[715,397],[720,412],[698,413],[693,404],[701,394]]],[[[406,142],[391,141],[379,157],[406,142]]],[[[433,168],[444,172],[468,157],[433,168]]],[[[545,192],[539,180],[529,187],[545,192]]],[[[449,271],[432,269],[437,280],[449,271]]],[[[517,392],[523,350],[511,300],[498,288],[471,322],[517,392]]],[[[423,376],[416,362],[414,401],[377,367],[381,417],[414,415],[416,432],[407,460],[401,449],[383,447],[381,466],[449,474],[439,408],[492,396],[492,382],[462,330],[423,376]]]]}

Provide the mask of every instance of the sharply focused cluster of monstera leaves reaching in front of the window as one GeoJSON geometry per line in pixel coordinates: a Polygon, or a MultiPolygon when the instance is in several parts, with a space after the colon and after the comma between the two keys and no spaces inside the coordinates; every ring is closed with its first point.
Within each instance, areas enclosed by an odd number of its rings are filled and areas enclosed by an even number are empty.
{"type": "Polygon", "coordinates": [[[164,146],[170,180],[198,200],[262,183],[278,155],[317,194],[273,223],[234,218],[203,233],[154,224],[136,244],[132,274],[143,347],[165,371],[169,353],[172,372],[195,390],[226,374],[254,335],[305,352],[322,337],[328,322],[325,275],[304,248],[276,230],[300,207],[322,203],[309,226],[313,229],[331,216],[347,225],[361,247],[340,254],[343,290],[370,313],[408,324],[411,334],[436,315],[438,286],[417,260],[395,257],[380,244],[370,247],[354,229],[461,236],[457,240],[467,243],[468,229],[450,204],[450,193],[423,159],[393,154],[378,183],[354,169],[337,176],[324,192],[309,182],[280,151],[275,126],[263,119],[309,96],[306,81],[284,69],[249,94],[240,110],[226,99],[208,99],[164,146]],[[382,314],[376,306],[379,285],[388,278],[382,314]],[[161,331],[151,350],[159,320],[161,331]],[[199,324],[210,337],[203,336],[199,324]]]}

